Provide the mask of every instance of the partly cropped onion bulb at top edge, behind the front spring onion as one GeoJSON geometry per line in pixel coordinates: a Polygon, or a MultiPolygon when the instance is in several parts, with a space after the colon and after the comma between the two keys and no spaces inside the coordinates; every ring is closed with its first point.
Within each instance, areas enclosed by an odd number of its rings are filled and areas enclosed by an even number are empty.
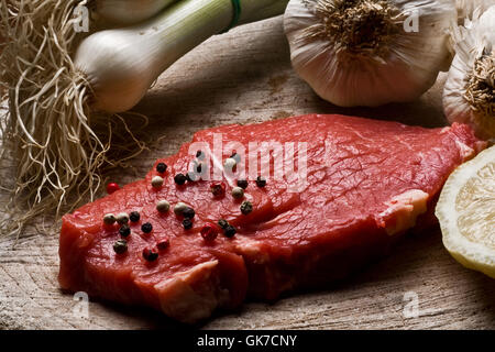
{"type": "Polygon", "coordinates": [[[178,0],[95,0],[94,11],[106,22],[129,25],[151,19],[176,1],[178,0]]]}

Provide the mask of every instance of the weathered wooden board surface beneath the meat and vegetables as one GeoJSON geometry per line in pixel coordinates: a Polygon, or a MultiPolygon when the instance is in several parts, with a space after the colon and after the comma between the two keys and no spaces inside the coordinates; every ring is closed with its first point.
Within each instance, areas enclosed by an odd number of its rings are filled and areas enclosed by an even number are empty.
{"type": "MultiPolygon", "coordinates": [[[[377,109],[342,109],[319,99],[293,72],[282,18],[212,37],[167,70],[135,109],[150,117],[146,138],[160,141],[114,170],[125,184],[158,156],[175,153],[195,131],[310,112],[346,113],[444,125],[444,75],[418,101],[377,109]]],[[[4,175],[3,175],[4,176],[4,175]]],[[[4,195],[1,201],[4,201],[4,195]]],[[[50,226],[50,224],[48,224],[50,226]]],[[[0,329],[180,328],[142,308],[89,300],[87,315],[57,284],[56,233],[29,228],[19,241],[0,239],[0,329]]],[[[411,233],[394,253],[344,282],[246,302],[198,324],[207,329],[494,329],[495,280],[458,264],[438,229],[411,233]]]]}

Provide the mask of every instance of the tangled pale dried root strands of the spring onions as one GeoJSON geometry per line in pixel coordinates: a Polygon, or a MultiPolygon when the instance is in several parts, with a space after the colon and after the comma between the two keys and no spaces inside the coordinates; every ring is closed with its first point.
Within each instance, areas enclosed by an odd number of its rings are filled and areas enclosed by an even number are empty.
{"type": "Polygon", "coordinates": [[[74,9],[85,4],[0,0],[0,33],[6,41],[0,81],[10,107],[0,116],[1,166],[15,161],[10,166],[13,175],[0,182],[10,191],[1,233],[19,234],[38,216],[58,218],[82,198],[92,198],[101,184],[98,170],[108,161],[110,141],[119,139],[110,131],[117,117],[92,114],[89,121],[90,87],[72,59],[85,35],[75,30],[80,19],[74,18],[74,9]]]}

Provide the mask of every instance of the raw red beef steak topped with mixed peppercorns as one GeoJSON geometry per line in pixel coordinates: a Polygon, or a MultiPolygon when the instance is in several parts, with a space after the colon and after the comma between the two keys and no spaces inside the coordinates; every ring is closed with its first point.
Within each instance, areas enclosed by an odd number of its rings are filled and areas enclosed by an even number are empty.
{"type": "MultiPolygon", "coordinates": [[[[294,193],[288,191],[293,180],[268,177],[265,187],[257,187],[255,178],[250,178],[245,199],[251,200],[253,211],[245,216],[240,211],[242,200],[230,195],[231,177],[223,178],[224,197],[213,197],[213,180],[174,183],[174,176],[189,170],[196,160],[197,144],[185,144],[176,155],[156,162],[168,165],[161,189],[151,185],[158,175],[154,167],[144,180],[64,217],[61,286],[152,306],[194,322],[217,308],[237,307],[246,296],[275,299],[287,290],[327,283],[386,254],[398,235],[415,226],[417,217],[431,217],[450,173],[484,147],[463,124],[424,129],[317,114],[209,129],[196,133],[193,142],[206,142],[213,151],[218,133],[223,145],[238,142],[239,165],[248,158],[240,148],[244,145],[248,150],[250,142],[260,142],[261,152],[270,148],[262,142],[296,142],[296,150],[297,143],[306,142],[307,183],[294,193]],[[160,199],[170,202],[168,213],[156,210],[160,199]],[[196,210],[191,230],[185,230],[172,210],[178,201],[196,210]],[[119,227],[105,226],[102,218],[109,212],[131,211],[139,211],[141,219],[130,223],[129,250],[118,255],[112,245],[120,238],[119,227]],[[237,234],[227,238],[220,233],[215,240],[205,240],[201,227],[219,219],[234,226],[237,234]],[[144,222],[153,224],[150,234],[141,231],[144,222]],[[146,262],[143,249],[166,239],[169,245],[158,258],[146,262]]],[[[231,153],[226,146],[222,155],[212,155],[211,161],[222,163],[219,158],[231,153]]],[[[278,167],[274,169],[280,168],[280,153],[275,148],[270,154],[270,164],[278,167]]],[[[302,155],[296,153],[296,166],[302,155]]]]}

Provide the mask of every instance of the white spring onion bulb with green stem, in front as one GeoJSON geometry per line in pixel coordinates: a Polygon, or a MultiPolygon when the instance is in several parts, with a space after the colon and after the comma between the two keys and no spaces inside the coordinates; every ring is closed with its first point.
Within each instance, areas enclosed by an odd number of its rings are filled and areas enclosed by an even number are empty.
{"type": "MultiPolygon", "coordinates": [[[[282,14],[288,2],[241,1],[240,23],[282,14]]],[[[143,24],[96,32],[85,38],[75,62],[94,91],[94,107],[107,112],[131,109],[165,69],[227,30],[233,19],[232,0],[183,0],[143,24]]]]}

